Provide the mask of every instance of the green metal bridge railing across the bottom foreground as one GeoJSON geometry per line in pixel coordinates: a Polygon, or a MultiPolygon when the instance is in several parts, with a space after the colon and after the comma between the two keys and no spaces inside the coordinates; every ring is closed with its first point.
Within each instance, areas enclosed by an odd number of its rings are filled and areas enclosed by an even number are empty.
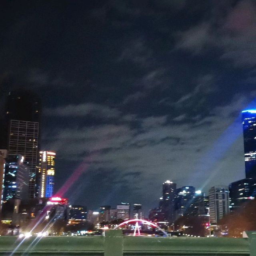
{"type": "Polygon", "coordinates": [[[133,237],[108,230],[106,236],[1,236],[0,255],[256,256],[256,232],[247,234],[248,238],[133,237]]]}

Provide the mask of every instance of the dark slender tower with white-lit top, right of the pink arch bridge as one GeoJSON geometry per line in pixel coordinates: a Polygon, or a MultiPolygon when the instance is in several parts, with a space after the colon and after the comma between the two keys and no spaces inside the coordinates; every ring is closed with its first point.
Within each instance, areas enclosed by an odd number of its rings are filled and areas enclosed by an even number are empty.
{"type": "Polygon", "coordinates": [[[163,198],[162,198],[162,209],[165,215],[165,220],[169,223],[173,223],[175,220],[175,197],[176,183],[166,180],[163,183],[163,198]]]}

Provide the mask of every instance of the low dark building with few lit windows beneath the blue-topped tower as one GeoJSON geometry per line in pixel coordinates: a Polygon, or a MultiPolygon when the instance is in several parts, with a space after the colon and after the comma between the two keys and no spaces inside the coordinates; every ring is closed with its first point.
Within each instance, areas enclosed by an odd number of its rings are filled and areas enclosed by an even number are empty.
{"type": "Polygon", "coordinates": [[[234,211],[256,197],[256,179],[247,178],[229,185],[230,211],[234,211]]]}

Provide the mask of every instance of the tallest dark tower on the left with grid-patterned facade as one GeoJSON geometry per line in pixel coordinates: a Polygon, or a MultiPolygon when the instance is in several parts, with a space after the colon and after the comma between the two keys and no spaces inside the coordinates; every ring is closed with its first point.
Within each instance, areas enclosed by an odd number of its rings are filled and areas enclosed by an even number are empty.
{"type": "Polygon", "coordinates": [[[21,154],[30,168],[29,196],[36,191],[38,164],[39,116],[41,105],[32,92],[10,92],[6,103],[7,150],[9,154],[21,154]]]}

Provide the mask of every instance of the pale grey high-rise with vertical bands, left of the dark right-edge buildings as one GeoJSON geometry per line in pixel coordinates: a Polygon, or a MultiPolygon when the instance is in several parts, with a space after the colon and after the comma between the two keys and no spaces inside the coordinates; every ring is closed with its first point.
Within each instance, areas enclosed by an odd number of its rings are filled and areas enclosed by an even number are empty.
{"type": "Polygon", "coordinates": [[[216,224],[229,212],[229,191],[227,186],[214,186],[209,190],[210,222],[216,224]]]}

